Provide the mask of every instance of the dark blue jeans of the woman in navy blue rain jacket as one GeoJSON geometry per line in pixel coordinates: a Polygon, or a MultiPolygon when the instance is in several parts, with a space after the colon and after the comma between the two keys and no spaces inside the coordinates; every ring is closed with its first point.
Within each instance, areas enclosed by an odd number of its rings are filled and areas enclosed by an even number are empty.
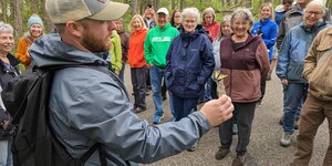
{"type": "Polygon", "coordinates": [[[172,95],[172,103],[174,106],[174,121],[180,121],[183,117],[188,116],[191,112],[197,111],[198,97],[184,98],[177,95],[172,95]]]}

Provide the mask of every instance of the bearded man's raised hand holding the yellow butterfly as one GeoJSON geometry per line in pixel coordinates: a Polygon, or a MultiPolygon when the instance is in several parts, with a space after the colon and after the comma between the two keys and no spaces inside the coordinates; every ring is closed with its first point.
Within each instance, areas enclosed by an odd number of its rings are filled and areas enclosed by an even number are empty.
{"type": "Polygon", "coordinates": [[[214,127],[232,116],[234,105],[230,97],[222,95],[218,100],[211,100],[203,105],[200,112],[214,127]]]}

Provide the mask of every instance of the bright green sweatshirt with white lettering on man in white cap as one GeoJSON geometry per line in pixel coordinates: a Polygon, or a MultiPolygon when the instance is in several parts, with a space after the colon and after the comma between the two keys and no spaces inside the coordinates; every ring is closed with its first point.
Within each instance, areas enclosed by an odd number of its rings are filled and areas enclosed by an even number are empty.
{"type": "Polygon", "coordinates": [[[148,64],[158,68],[166,66],[166,53],[175,37],[179,34],[176,28],[167,23],[164,29],[159,25],[148,31],[144,41],[144,58],[148,64]]]}

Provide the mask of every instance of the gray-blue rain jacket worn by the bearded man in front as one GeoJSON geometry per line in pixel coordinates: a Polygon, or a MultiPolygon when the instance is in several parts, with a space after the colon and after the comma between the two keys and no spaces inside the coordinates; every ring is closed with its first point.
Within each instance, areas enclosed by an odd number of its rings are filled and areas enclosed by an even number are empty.
{"type": "MultiPolygon", "coordinates": [[[[41,37],[30,55],[37,66],[63,64],[107,65],[101,54],[82,52],[58,34],[41,37]]],[[[72,157],[81,157],[95,143],[106,151],[107,165],[152,163],[194,145],[210,128],[200,112],[179,122],[156,126],[133,113],[124,90],[107,74],[91,68],[68,68],[55,73],[50,96],[50,124],[72,157]]],[[[101,165],[98,152],[86,162],[101,165]]]]}

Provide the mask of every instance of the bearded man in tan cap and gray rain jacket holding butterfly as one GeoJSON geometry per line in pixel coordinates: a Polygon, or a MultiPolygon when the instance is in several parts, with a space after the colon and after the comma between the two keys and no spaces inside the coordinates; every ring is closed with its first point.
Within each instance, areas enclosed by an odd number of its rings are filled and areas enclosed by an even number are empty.
{"type": "MultiPolygon", "coordinates": [[[[48,0],[46,10],[59,34],[43,35],[30,55],[37,66],[94,64],[111,45],[113,21],[127,4],[110,0],[48,0]]],[[[74,158],[95,143],[105,149],[107,165],[152,163],[190,148],[205,133],[232,116],[228,96],[206,103],[179,122],[149,126],[133,113],[121,83],[91,68],[58,71],[49,102],[50,124],[56,138],[74,158]]],[[[101,165],[94,153],[85,165],[101,165]]]]}

